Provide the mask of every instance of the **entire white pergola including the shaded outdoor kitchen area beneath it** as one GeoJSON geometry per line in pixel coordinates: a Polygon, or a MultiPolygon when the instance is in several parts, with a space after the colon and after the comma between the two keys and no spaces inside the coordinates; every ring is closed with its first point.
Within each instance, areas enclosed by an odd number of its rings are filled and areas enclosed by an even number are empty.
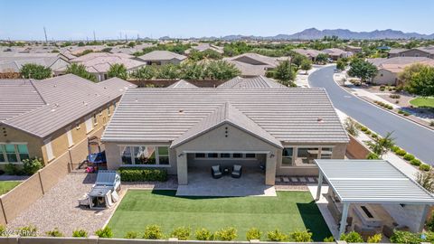
{"type": "Polygon", "coordinates": [[[318,159],[316,164],[316,202],[327,225],[337,229],[335,238],[351,230],[365,239],[423,230],[434,197],[388,161],[318,159]]]}

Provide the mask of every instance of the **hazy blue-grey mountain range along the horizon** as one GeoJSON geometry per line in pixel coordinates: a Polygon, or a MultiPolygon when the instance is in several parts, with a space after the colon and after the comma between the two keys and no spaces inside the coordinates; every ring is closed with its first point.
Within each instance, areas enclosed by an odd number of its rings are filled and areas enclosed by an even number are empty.
{"type": "MultiPolygon", "coordinates": [[[[325,36],[335,35],[339,39],[365,39],[365,40],[379,40],[379,39],[434,39],[434,33],[432,34],[420,34],[420,33],[403,33],[401,31],[395,31],[391,29],[387,30],[375,30],[373,32],[352,32],[347,29],[335,29],[335,30],[318,30],[316,28],[306,29],[299,33],[293,34],[278,34],[275,36],[254,36],[254,35],[226,35],[222,40],[225,41],[237,41],[237,40],[268,40],[268,41],[285,41],[285,40],[316,40],[322,39],[325,36]]],[[[194,38],[193,38],[194,39],[194,38]]],[[[218,39],[216,37],[203,37],[201,39],[218,39]]]]}

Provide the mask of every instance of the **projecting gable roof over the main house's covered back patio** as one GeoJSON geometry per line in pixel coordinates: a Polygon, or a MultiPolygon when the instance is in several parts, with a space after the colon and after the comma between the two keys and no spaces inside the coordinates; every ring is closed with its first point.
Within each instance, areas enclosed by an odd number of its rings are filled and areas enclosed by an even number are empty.
{"type": "Polygon", "coordinates": [[[220,127],[224,124],[230,124],[233,127],[238,127],[242,131],[249,133],[271,145],[283,148],[280,141],[263,128],[259,127],[249,117],[242,114],[237,108],[231,106],[229,102],[222,104],[220,108],[214,110],[208,117],[204,117],[199,123],[187,130],[182,136],[176,138],[170,147],[174,148],[183,145],[197,136],[201,136],[213,128],[220,127]]]}

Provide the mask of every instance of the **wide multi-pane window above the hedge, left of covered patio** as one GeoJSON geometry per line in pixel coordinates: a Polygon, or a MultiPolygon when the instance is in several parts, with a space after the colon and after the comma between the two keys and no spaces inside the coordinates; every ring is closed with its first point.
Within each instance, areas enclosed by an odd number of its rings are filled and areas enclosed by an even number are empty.
{"type": "Polygon", "coordinates": [[[169,164],[169,147],[120,145],[122,164],[169,164]]]}

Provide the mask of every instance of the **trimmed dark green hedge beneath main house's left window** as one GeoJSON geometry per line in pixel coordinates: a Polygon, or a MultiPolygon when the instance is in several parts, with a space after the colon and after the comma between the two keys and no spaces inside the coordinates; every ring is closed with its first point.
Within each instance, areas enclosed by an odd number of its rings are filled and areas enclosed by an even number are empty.
{"type": "Polygon", "coordinates": [[[119,169],[120,178],[124,182],[165,182],[167,170],[124,167],[119,169]]]}

